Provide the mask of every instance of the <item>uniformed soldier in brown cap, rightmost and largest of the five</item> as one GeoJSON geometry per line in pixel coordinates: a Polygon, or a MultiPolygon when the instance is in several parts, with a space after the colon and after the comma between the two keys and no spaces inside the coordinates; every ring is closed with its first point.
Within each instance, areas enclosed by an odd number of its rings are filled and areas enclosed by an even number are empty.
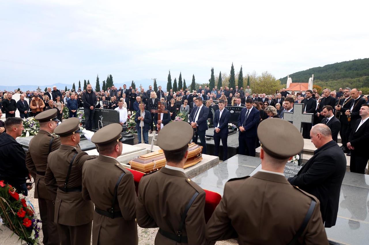
{"type": "Polygon", "coordinates": [[[206,224],[206,238],[238,237],[239,244],[328,245],[319,200],[291,185],[283,175],[287,160],[303,149],[300,131],[274,118],[260,123],[258,137],[262,169],[225,184],[223,198],[206,224]],[[283,142],[284,147],[275,141],[283,142]]]}

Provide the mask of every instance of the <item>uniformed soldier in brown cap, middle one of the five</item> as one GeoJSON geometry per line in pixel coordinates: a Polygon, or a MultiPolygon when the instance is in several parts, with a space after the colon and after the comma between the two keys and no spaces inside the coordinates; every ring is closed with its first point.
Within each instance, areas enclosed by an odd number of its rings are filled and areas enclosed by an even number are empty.
{"type": "Polygon", "coordinates": [[[122,153],[122,126],[100,128],[91,138],[100,155],[82,167],[82,196],[95,212],[92,244],[138,244],[136,202],[132,173],[116,160],[122,153]]]}

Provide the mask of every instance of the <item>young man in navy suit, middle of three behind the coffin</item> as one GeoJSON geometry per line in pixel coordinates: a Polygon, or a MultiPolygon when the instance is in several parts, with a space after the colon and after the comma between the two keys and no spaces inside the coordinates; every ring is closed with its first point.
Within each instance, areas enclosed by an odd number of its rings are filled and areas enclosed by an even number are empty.
{"type": "Polygon", "coordinates": [[[228,155],[228,122],[230,121],[231,113],[225,109],[225,101],[219,100],[219,110],[215,111],[214,115],[214,156],[219,155],[220,140],[223,145],[223,161],[227,160],[228,155]]]}

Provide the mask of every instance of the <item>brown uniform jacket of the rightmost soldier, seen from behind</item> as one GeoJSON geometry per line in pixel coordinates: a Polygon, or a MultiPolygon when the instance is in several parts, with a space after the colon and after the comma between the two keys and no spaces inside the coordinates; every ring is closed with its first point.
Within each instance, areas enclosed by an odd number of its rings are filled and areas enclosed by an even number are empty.
{"type": "Polygon", "coordinates": [[[259,171],[228,181],[223,198],[206,224],[213,241],[237,238],[239,244],[288,244],[299,230],[311,200],[316,205],[300,244],[327,244],[319,200],[284,176],[259,171]]]}

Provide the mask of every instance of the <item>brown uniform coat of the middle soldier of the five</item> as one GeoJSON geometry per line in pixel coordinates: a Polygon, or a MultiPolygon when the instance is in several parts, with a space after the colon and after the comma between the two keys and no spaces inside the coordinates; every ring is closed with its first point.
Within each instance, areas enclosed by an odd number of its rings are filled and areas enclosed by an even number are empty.
{"type": "Polygon", "coordinates": [[[138,244],[136,203],[137,196],[133,174],[113,157],[99,155],[87,160],[82,168],[82,196],[95,204],[92,226],[92,244],[138,244]],[[114,219],[101,215],[96,209],[109,212],[114,200],[114,219]],[[120,213],[118,215],[117,213],[120,213]],[[120,217],[119,217],[120,216],[120,217]]]}

